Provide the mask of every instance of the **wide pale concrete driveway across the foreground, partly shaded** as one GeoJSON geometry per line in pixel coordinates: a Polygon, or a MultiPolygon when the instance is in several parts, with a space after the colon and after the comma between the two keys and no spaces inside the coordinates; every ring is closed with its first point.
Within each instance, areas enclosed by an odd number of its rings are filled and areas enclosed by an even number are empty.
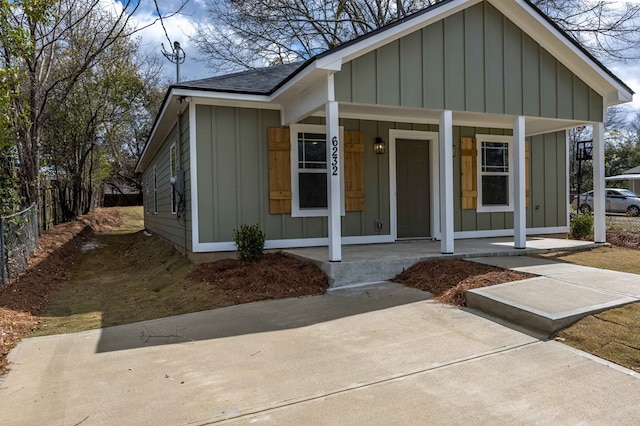
{"type": "Polygon", "coordinates": [[[637,424],[640,377],[383,284],[26,339],[5,425],[637,424]]]}

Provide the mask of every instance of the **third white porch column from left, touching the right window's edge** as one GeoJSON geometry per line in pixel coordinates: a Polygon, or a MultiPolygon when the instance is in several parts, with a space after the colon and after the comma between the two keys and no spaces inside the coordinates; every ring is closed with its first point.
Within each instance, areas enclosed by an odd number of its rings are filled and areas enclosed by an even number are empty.
{"type": "Polygon", "coordinates": [[[513,245],[515,248],[527,247],[527,205],[526,205],[526,166],[523,116],[513,120],[513,245]]]}

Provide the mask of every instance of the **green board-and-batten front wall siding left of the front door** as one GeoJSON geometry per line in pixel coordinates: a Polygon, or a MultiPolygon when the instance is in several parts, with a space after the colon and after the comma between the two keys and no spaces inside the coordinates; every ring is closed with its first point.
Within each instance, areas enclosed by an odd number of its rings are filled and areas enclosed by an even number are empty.
{"type": "MultiPolygon", "coordinates": [[[[310,117],[303,122],[324,124],[324,119],[310,117]]],[[[267,130],[279,127],[278,111],[198,105],[196,123],[201,243],[232,241],[233,229],[243,223],[260,224],[270,240],[326,237],[326,218],[269,213],[267,130]]],[[[340,125],[361,131],[365,141],[388,135],[394,128],[434,127],[342,119],[340,125]]],[[[347,212],[342,218],[343,236],[389,233],[388,156],[369,149],[364,155],[365,210],[347,212]],[[376,228],[378,220],[382,229],[376,228]]]]}

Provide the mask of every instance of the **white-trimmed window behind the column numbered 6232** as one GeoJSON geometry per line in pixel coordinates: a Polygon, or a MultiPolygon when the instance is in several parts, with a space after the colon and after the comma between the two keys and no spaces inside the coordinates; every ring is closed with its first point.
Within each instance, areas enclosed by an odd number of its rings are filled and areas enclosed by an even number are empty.
{"type": "MultiPolygon", "coordinates": [[[[291,215],[312,217],[328,215],[327,136],[325,126],[295,124],[291,129],[291,215]]],[[[344,131],[340,127],[340,140],[344,131]]],[[[340,144],[343,158],[343,143],[340,144]]],[[[340,180],[344,194],[344,167],[340,180]]],[[[344,214],[344,196],[341,212],[344,214]]]]}

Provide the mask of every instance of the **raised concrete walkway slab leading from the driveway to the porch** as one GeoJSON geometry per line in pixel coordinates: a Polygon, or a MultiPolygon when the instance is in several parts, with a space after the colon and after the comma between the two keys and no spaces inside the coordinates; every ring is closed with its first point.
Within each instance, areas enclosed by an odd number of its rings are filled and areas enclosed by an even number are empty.
{"type": "Polygon", "coordinates": [[[587,315],[640,301],[640,276],[527,256],[471,259],[539,275],[467,292],[467,306],[551,335],[587,315]]]}

